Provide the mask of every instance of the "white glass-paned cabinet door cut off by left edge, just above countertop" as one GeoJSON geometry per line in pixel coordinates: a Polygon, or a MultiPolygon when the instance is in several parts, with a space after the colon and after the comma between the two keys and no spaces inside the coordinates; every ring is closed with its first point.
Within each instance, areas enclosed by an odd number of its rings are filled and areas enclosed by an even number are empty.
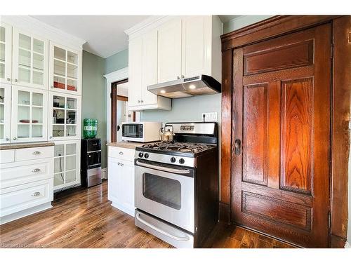
{"type": "Polygon", "coordinates": [[[0,83],[0,143],[11,138],[11,86],[0,83]]]}

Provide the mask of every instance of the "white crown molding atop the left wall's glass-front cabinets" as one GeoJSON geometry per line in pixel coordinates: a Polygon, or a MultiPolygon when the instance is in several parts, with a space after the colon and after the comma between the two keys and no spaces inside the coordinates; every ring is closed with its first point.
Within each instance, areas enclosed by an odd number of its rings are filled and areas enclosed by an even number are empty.
{"type": "Polygon", "coordinates": [[[37,34],[55,43],[61,43],[69,48],[79,49],[83,48],[86,40],[79,39],[77,36],[67,34],[60,29],[52,27],[44,22],[32,18],[29,15],[1,15],[1,22],[6,22],[13,27],[37,34]]]}

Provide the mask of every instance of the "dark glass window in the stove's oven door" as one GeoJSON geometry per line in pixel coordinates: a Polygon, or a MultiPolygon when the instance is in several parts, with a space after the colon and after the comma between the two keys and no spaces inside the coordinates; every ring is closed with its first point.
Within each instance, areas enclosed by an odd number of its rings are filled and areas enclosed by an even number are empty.
{"type": "Polygon", "coordinates": [[[143,195],[157,203],[180,210],[181,188],[177,180],[150,173],[143,174],[143,195]]]}

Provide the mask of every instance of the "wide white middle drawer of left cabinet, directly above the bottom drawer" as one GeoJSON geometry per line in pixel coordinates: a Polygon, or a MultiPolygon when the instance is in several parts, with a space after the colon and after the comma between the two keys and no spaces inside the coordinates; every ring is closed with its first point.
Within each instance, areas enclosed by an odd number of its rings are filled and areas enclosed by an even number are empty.
{"type": "Polygon", "coordinates": [[[53,177],[53,159],[6,163],[0,166],[0,188],[14,187],[53,177]]]}

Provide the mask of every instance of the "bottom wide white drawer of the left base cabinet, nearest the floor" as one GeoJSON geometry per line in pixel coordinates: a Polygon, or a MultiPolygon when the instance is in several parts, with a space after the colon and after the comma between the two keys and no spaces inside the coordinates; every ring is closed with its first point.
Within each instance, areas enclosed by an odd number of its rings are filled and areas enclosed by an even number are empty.
{"type": "Polygon", "coordinates": [[[0,217],[53,201],[53,179],[0,190],[0,217]]]}

